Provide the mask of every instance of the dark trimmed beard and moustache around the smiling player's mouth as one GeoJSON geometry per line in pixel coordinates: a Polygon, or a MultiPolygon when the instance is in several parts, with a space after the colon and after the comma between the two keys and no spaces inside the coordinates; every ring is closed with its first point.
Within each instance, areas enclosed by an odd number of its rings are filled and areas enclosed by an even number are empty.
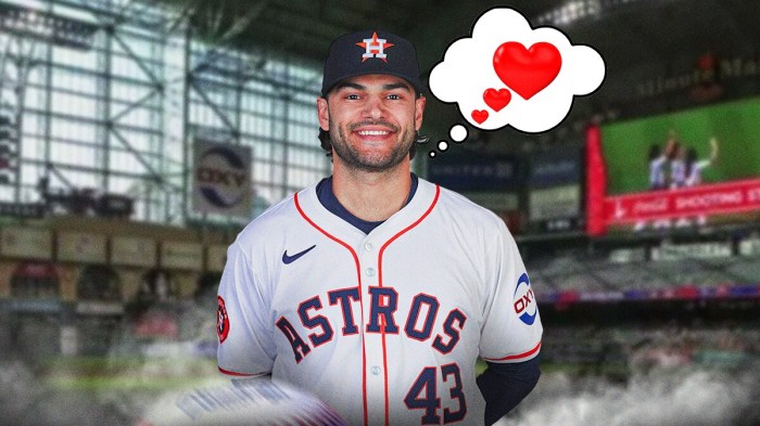
{"type": "Polygon", "coordinates": [[[355,170],[380,172],[393,169],[401,164],[413,147],[415,132],[409,128],[401,129],[398,126],[384,120],[366,120],[349,125],[342,128],[330,121],[330,141],[341,160],[355,170]],[[351,133],[360,126],[382,126],[397,135],[396,145],[388,154],[363,153],[356,146],[349,143],[351,133]]]}

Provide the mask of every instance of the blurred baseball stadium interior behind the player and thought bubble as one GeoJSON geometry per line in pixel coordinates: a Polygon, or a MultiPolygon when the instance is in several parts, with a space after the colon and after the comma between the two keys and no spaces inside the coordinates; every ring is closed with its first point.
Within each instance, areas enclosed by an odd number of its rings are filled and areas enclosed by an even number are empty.
{"type": "Polygon", "coordinates": [[[496,7],[606,67],[539,133],[439,144],[466,120],[426,93],[413,170],[507,223],[544,325],[498,424],[760,424],[756,0],[0,0],[0,424],[131,425],[223,380],[227,246],[330,175],[330,41],[402,35],[427,81],[496,7]],[[696,182],[656,188],[669,139],[696,182]]]}

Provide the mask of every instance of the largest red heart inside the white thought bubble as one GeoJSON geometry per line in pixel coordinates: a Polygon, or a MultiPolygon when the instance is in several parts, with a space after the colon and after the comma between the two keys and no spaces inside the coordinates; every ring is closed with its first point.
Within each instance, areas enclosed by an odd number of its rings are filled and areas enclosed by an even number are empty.
{"type": "Polygon", "coordinates": [[[525,100],[549,86],[561,67],[559,50],[544,41],[530,49],[517,41],[507,41],[494,52],[496,75],[525,100]]]}

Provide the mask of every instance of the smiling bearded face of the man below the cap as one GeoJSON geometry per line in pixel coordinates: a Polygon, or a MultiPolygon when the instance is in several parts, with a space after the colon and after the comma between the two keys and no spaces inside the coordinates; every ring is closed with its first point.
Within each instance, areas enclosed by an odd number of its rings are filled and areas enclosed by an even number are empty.
{"type": "Polygon", "coordinates": [[[330,132],[335,165],[384,171],[405,159],[422,125],[425,98],[385,75],[349,78],[317,100],[319,126],[330,132]]]}

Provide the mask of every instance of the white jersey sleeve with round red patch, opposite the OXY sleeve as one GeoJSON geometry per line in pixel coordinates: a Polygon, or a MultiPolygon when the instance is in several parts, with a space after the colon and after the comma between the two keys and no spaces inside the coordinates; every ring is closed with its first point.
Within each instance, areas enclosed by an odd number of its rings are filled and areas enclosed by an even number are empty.
{"type": "Polygon", "coordinates": [[[217,295],[217,363],[232,377],[269,374],[276,346],[267,295],[239,242],[227,249],[217,295]]]}

